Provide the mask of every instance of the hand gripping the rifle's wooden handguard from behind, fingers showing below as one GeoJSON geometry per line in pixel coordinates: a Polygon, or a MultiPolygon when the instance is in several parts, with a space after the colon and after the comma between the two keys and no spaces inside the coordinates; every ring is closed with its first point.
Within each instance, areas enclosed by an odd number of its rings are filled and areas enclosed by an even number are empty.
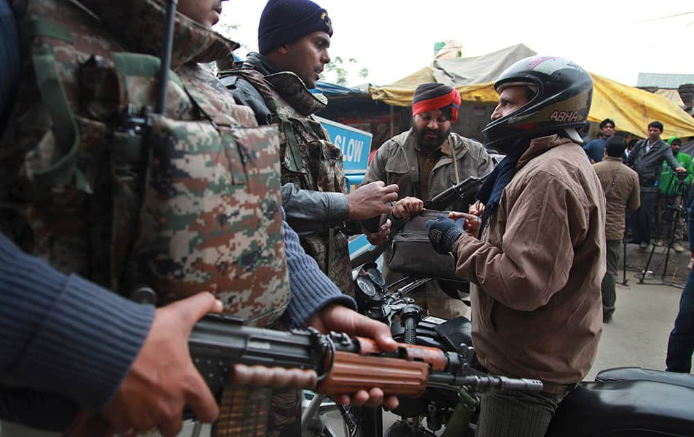
{"type": "MultiPolygon", "coordinates": [[[[377,322],[362,314],[357,313],[341,305],[330,305],[323,308],[309,321],[309,325],[320,332],[329,331],[344,332],[350,336],[362,336],[374,339],[381,350],[393,352],[398,349],[398,343],[393,340],[390,329],[385,323],[377,322]]],[[[353,404],[355,406],[379,406],[385,404],[389,409],[398,406],[398,397],[384,396],[380,388],[360,390],[351,399],[349,395],[333,397],[339,404],[353,404]]]]}

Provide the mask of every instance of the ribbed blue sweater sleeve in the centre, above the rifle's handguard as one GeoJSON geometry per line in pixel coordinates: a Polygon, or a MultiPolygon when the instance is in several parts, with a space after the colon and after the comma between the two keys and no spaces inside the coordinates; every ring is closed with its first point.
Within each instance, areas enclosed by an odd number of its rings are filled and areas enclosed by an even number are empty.
{"type": "MultiPolygon", "coordinates": [[[[284,218],[282,209],[282,218],[284,218]]],[[[285,246],[287,249],[287,268],[289,268],[289,286],[291,300],[285,313],[290,327],[305,327],[317,311],[327,305],[339,304],[356,309],[353,298],[343,294],[330,281],[316,264],[316,261],[306,255],[299,243],[299,237],[287,222],[285,227],[285,246]]]]}

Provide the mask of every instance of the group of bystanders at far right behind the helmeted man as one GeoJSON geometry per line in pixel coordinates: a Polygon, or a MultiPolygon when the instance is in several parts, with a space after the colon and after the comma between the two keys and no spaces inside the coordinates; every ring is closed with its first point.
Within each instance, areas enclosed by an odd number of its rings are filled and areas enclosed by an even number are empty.
{"type": "Polygon", "coordinates": [[[632,140],[629,143],[632,147],[627,147],[625,140],[630,135],[616,133],[615,128],[612,119],[602,120],[598,138],[584,142],[583,146],[594,163],[607,199],[607,272],[602,280],[602,321],[609,323],[615,311],[616,270],[622,243],[628,239],[638,244],[639,250],[653,244],[681,253],[686,251],[682,246],[686,230],[691,251],[690,273],[668,339],[666,366],[668,371],[689,373],[694,353],[692,157],[681,151],[681,138],[672,136],[663,142],[660,137],[664,126],[659,121],[649,123],[648,138],[632,140]]]}

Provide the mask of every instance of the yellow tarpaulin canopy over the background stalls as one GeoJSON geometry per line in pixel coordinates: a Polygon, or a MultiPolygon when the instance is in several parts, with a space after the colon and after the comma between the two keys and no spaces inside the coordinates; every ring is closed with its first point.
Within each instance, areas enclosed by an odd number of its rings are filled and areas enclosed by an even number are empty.
{"type": "MultiPolygon", "coordinates": [[[[412,95],[417,85],[436,82],[432,67],[425,67],[387,87],[369,87],[374,100],[393,106],[412,105],[412,95]]],[[[594,82],[593,105],[589,121],[613,119],[617,130],[632,132],[640,137],[648,136],[648,123],[663,123],[663,138],[693,137],[694,118],[668,98],[643,89],[629,87],[614,80],[592,74],[594,82]]],[[[496,102],[498,94],[492,83],[462,85],[457,87],[464,101],[496,102]]]]}

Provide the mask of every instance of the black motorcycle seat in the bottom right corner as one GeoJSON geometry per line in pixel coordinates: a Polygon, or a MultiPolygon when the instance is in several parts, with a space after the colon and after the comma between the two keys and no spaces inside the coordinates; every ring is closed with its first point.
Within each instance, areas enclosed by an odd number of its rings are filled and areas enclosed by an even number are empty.
{"type": "Polygon", "coordinates": [[[694,434],[694,388],[654,381],[582,382],[559,404],[545,436],[694,434]]]}

